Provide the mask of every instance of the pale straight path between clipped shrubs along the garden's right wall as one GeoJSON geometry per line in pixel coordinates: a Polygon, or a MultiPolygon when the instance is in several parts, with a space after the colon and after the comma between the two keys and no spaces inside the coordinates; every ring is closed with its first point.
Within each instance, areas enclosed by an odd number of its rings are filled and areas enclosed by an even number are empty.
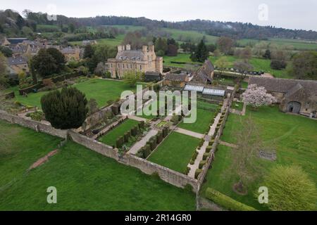
{"type": "MultiPolygon", "coordinates": [[[[221,116],[221,113],[218,113],[218,115],[215,118],[215,121],[213,122],[213,124],[211,125],[209,129],[208,136],[213,136],[213,134],[215,133],[217,124],[220,120],[220,116],[221,116]]],[[[194,164],[193,165],[190,165],[190,163],[188,164],[188,167],[190,168],[188,176],[192,178],[195,177],[196,169],[199,169],[199,162],[203,160],[203,156],[204,156],[204,153],[206,152],[207,146],[209,146],[209,141],[204,141],[204,144],[201,146],[201,148],[200,149],[197,148],[198,155],[196,160],[194,161],[194,164]]]]}

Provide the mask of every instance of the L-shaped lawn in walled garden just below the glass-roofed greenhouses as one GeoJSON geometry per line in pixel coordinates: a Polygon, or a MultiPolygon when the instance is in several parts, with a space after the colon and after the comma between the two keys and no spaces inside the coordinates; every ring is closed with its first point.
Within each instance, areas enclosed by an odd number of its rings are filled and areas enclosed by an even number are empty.
{"type": "Polygon", "coordinates": [[[197,102],[197,120],[194,123],[180,123],[178,127],[182,129],[188,129],[189,131],[194,131],[200,134],[205,134],[209,130],[209,124],[212,122],[215,116],[214,110],[218,105],[213,105],[204,102],[197,102]],[[206,107],[206,108],[204,108],[206,107]],[[208,109],[208,110],[207,110],[208,109]]]}

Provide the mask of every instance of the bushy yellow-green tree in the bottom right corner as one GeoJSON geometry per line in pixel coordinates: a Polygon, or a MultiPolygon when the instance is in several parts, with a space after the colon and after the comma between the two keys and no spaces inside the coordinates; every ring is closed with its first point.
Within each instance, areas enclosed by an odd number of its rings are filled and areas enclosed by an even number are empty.
{"type": "Polygon", "coordinates": [[[316,210],[316,186],[302,167],[278,165],[264,176],[268,206],[274,211],[316,210]]]}

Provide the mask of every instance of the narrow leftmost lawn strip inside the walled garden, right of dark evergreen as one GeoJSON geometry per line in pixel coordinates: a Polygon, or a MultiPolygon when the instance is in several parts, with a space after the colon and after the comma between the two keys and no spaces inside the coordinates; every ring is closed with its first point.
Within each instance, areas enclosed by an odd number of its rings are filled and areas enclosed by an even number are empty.
{"type": "Polygon", "coordinates": [[[139,122],[137,122],[136,120],[125,120],[122,124],[118,125],[118,127],[112,129],[104,136],[101,136],[99,138],[99,141],[109,146],[116,146],[117,139],[120,136],[123,136],[126,131],[130,131],[130,129],[132,129],[132,127],[135,127],[135,125],[137,124],[139,124],[139,122]]]}

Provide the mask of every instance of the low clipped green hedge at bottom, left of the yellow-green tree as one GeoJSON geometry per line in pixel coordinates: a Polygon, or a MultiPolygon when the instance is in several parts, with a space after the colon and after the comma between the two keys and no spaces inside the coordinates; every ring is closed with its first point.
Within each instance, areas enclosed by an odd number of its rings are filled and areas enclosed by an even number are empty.
{"type": "Polygon", "coordinates": [[[224,195],[223,193],[220,193],[216,190],[213,190],[212,188],[207,188],[206,198],[213,201],[217,205],[224,207],[227,210],[256,211],[256,209],[254,209],[254,207],[240,203],[240,202],[228,197],[227,195],[224,195]]]}

